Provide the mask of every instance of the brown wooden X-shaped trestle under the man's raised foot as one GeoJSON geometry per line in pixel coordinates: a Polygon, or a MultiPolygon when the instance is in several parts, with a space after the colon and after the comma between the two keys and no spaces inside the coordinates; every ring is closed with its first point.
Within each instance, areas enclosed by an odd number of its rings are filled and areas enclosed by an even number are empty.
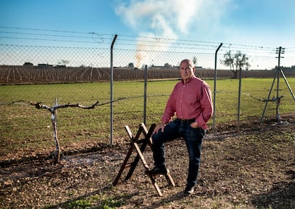
{"type": "MultiPolygon", "coordinates": [[[[141,160],[141,162],[143,163],[143,166],[145,167],[145,174],[147,174],[150,177],[152,184],[154,185],[155,189],[157,190],[157,193],[160,196],[162,196],[162,192],[161,192],[159,186],[157,185],[157,182],[155,181],[155,176],[151,175],[149,173],[150,168],[148,166],[148,163],[145,160],[145,157],[143,156],[143,152],[145,151],[145,148],[147,145],[149,145],[150,148],[152,149],[151,136],[152,136],[152,132],[154,131],[155,127],[156,127],[156,125],[155,125],[155,123],[153,123],[152,126],[150,126],[150,129],[148,131],[148,129],[145,127],[145,124],[141,123],[138,128],[138,133],[136,133],[136,136],[133,137],[133,134],[131,133],[130,128],[128,126],[125,126],[125,129],[128,133],[130,141],[131,141],[130,149],[127,153],[127,156],[125,157],[125,160],[123,161],[123,164],[121,165],[121,168],[119,170],[117,177],[115,178],[115,180],[113,182],[113,185],[118,184],[120,176],[122,175],[123,170],[125,168],[130,168],[126,177],[125,177],[125,180],[128,180],[133,175],[133,172],[134,172],[136,166],[138,165],[139,160],[141,160]],[[144,136],[143,139],[139,139],[141,133],[143,133],[143,136],[144,136]],[[132,155],[134,149],[137,153],[137,156],[135,157],[135,159],[133,160],[132,163],[128,163],[129,158],[132,155]]],[[[175,183],[174,183],[174,180],[172,179],[168,169],[167,169],[167,173],[166,173],[165,177],[166,177],[168,183],[174,187],[175,183]]]]}

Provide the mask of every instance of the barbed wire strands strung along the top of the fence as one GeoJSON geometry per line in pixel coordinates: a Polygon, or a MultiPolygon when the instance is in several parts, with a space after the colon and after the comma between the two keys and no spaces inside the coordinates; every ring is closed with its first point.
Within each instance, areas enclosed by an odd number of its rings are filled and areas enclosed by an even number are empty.
{"type": "MultiPolygon", "coordinates": [[[[85,31],[62,31],[62,30],[53,30],[53,29],[29,29],[21,27],[11,27],[11,26],[0,26],[0,29],[9,29],[16,31],[0,31],[0,34],[17,34],[24,36],[38,36],[38,37],[9,37],[9,36],[0,36],[1,39],[24,39],[24,40],[38,40],[38,41],[66,41],[66,42],[76,42],[76,43],[87,43],[87,44],[110,44],[113,40],[114,34],[101,34],[96,32],[85,32],[85,31]],[[46,31],[54,34],[39,34],[39,33],[26,33],[25,31],[46,31]],[[65,34],[87,34],[89,36],[73,36],[65,34]],[[40,37],[39,37],[40,36],[40,37]],[[68,39],[43,39],[45,37],[62,37],[62,38],[71,38],[75,40],[68,39]],[[79,40],[86,39],[86,40],[79,40]],[[89,39],[89,40],[87,40],[89,39]],[[99,41],[97,40],[99,39],[99,41]]],[[[120,34],[118,35],[118,45],[123,46],[142,46],[142,47],[169,47],[171,49],[200,49],[200,50],[216,50],[220,42],[214,41],[197,41],[197,40],[185,40],[185,39],[170,39],[166,37],[148,37],[148,36],[130,36],[120,34]],[[162,44],[163,46],[159,46],[162,44]]],[[[276,48],[267,47],[267,46],[252,46],[247,44],[232,44],[232,43],[223,43],[222,49],[227,51],[236,49],[238,51],[243,51],[247,53],[275,53],[276,48]]],[[[295,49],[295,47],[289,47],[285,49],[295,49]]],[[[291,51],[293,52],[293,51],[291,51]]]]}

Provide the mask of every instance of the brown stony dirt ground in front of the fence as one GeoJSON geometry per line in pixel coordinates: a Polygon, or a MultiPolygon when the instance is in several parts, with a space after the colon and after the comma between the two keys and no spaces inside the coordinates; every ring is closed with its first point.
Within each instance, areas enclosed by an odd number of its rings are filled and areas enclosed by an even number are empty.
{"type": "MultiPolygon", "coordinates": [[[[245,121],[239,133],[234,124],[209,130],[190,196],[183,195],[188,156],[181,139],[165,147],[176,186],[157,178],[162,197],[141,162],[113,186],[129,148],[76,143],[63,148],[57,165],[50,151],[0,156],[0,208],[295,208],[295,113],[263,126],[245,121]]],[[[144,156],[152,167],[150,148],[144,156]]]]}

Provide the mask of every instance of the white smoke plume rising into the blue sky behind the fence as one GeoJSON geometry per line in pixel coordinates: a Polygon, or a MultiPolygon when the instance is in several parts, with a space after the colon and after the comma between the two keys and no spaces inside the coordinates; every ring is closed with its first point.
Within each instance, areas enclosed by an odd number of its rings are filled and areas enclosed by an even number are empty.
{"type": "MultiPolygon", "coordinates": [[[[227,1],[230,0],[130,0],[118,4],[115,13],[127,26],[138,31],[138,36],[171,40],[138,44],[139,51],[155,49],[155,46],[164,50],[180,35],[188,34],[197,24],[203,24],[203,19],[208,23],[209,19],[219,16],[218,7],[220,9],[227,1]]],[[[142,38],[138,39],[140,42],[143,43],[142,38]]],[[[144,57],[143,52],[135,56],[137,67],[144,63],[144,57]]]]}

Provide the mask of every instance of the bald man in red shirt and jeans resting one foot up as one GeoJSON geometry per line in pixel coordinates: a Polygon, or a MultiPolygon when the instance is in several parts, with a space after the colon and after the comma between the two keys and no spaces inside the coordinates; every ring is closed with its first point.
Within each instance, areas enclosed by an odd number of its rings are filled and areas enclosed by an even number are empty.
{"type": "Polygon", "coordinates": [[[189,168],[185,194],[194,193],[200,167],[202,140],[207,122],[212,117],[212,95],[208,84],[195,76],[189,59],[180,62],[182,81],[178,82],[167,101],[162,123],[152,134],[155,167],[150,174],[166,174],[164,146],[166,141],[182,137],[187,145],[189,168]],[[174,119],[174,116],[176,118],[174,119]]]}

